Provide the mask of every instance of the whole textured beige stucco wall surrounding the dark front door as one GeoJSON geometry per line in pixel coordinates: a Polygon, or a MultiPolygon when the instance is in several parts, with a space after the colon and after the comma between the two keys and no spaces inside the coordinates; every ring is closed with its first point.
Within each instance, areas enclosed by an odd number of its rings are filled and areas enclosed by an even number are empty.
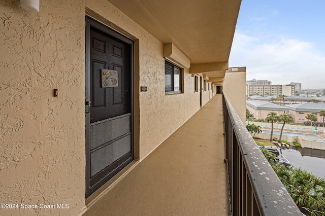
{"type": "Polygon", "coordinates": [[[200,94],[185,69],[184,93],[165,95],[163,44],[105,0],[42,0],[39,13],[17,4],[0,2],[0,200],[69,204],[23,215],[76,215],[85,208],[85,8],[139,40],[140,159],[199,110],[200,94]]]}

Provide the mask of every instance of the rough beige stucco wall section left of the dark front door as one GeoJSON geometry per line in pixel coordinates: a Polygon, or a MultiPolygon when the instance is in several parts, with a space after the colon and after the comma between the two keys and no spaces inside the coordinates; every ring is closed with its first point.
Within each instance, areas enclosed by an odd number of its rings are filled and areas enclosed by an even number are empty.
{"type": "Polygon", "coordinates": [[[69,209],[0,214],[77,214],[85,196],[84,4],[41,1],[40,13],[28,13],[18,3],[0,3],[0,200],[69,209]]]}

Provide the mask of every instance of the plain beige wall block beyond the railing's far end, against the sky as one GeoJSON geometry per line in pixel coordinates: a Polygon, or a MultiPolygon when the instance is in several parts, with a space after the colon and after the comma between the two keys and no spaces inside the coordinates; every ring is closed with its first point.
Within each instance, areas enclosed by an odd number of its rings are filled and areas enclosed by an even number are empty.
{"type": "Polygon", "coordinates": [[[246,72],[227,72],[222,91],[243,123],[246,121],[246,72]]]}

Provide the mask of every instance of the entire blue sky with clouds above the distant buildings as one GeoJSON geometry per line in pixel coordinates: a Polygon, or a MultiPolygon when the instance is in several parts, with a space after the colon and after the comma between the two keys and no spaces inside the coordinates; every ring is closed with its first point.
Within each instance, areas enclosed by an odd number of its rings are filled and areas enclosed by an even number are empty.
{"type": "Polygon", "coordinates": [[[325,88],[325,0],[242,0],[229,66],[246,79],[325,88]]]}

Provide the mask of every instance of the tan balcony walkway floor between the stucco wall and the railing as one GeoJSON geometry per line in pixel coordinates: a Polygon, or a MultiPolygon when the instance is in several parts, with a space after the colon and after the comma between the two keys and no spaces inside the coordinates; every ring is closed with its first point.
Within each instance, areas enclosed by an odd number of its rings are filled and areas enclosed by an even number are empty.
{"type": "Polygon", "coordinates": [[[83,215],[229,215],[221,94],[83,215]]]}

